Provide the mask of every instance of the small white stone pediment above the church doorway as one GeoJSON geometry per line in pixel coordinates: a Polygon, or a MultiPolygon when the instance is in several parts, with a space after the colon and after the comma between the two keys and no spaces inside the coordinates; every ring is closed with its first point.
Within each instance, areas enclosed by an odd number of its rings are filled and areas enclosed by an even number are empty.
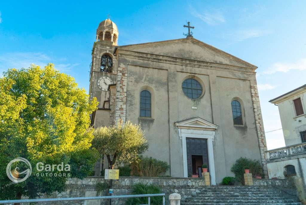
{"type": "Polygon", "coordinates": [[[218,125],[215,125],[200,117],[178,121],[175,123],[175,125],[179,128],[198,128],[198,129],[212,129],[212,130],[215,130],[218,128],[218,125]]]}

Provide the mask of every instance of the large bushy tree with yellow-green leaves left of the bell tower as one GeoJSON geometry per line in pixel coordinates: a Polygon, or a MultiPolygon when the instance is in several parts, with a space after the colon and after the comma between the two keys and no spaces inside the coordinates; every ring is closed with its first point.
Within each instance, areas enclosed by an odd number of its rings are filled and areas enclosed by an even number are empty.
{"type": "MultiPolygon", "coordinates": [[[[89,115],[97,109],[73,77],[59,73],[53,64],[43,69],[9,69],[0,78],[0,199],[36,198],[44,193],[65,191],[69,177],[55,168],[53,177],[40,176],[36,163],[70,165],[70,177],[84,178],[92,170],[98,153],[91,148],[93,129],[89,115]],[[32,174],[20,183],[6,175],[14,158],[30,161],[32,174]],[[37,176],[38,174],[38,176],[37,176]]],[[[27,169],[24,163],[17,164],[27,169]]],[[[44,172],[45,173],[45,172],[44,172]]]]}

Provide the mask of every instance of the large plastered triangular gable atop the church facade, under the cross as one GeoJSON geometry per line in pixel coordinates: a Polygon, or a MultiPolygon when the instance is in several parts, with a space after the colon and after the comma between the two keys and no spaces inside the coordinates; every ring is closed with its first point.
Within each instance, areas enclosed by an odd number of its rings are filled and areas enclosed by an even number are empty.
{"type": "Polygon", "coordinates": [[[226,53],[211,45],[205,44],[204,42],[195,38],[183,38],[118,46],[115,49],[115,52],[119,50],[136,51],[141,53],[176,57],[180,59],[245,67],[254,69],[254,71],[257,68],[257,66],[254,66],[251,63],[230,55],[229,53],[226,53]]]}

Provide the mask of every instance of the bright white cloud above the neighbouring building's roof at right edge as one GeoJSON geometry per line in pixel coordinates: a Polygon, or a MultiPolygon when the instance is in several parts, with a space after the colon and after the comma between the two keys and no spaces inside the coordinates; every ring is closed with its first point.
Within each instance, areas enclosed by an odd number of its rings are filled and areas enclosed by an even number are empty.
{"type": "Polygon", "coordinates": [[[271,69],[268,69],[264,74],[273,74],[276,72],[286,73],[289,70],[306,70],[306,58],[300,59],[294,63],[274,63],[271,69]]]}

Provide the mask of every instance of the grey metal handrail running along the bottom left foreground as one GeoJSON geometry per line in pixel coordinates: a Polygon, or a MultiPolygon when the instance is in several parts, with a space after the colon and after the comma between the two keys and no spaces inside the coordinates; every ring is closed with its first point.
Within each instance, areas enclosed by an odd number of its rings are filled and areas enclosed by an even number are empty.
{"type": "Polygon", "coordinates": [[[39,203],[39,202],[57,202],[57,201],[83,201],[83,200],[97,200],[97,199],[122,199],[122,198],[148,197],[148,203],[142,204],[142,205],[150,205],[150,197],[154,197],[154,196],[162,196],[162,205],[165,205],[165,194],[138,194],[138,195],[92,196],[92,197],[75,197],[75,198],[2,200],[0,201],[0,204],[39,203]]]}

